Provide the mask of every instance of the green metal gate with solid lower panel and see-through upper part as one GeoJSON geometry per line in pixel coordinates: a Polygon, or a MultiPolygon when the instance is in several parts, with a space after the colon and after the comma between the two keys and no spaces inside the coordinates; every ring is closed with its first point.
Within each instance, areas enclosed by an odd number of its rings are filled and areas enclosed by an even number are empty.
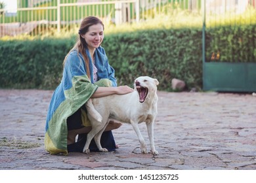
{"type": "Polygon", "coordinates": [[[256,92],[255,1],[204,0],[202,10],[203,90],[256,92]]]}

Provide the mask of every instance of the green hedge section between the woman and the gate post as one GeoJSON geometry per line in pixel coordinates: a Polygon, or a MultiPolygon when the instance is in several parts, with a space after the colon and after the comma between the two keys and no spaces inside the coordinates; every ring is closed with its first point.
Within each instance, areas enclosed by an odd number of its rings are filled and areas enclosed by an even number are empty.
{"type": "Polygon", "coordinates": [[[171,79],[189,87],[202,84],[202,32],[194,29],[161,29],[108,36],[104,48],[117,71],[120,84],[135,77],[158,78],[160,90],[171,90],[171,79]]]}

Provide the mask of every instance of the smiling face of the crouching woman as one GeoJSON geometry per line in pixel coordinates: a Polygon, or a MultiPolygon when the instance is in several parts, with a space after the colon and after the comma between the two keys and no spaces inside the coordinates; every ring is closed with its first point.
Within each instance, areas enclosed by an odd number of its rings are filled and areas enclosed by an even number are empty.
{"type": "Polygon", "coordinates": [[[104,39],[103,26],[101,24],[91,25],[87,33],[82,37],[85,39],[89,49],[98,48],[104,39]]]}

